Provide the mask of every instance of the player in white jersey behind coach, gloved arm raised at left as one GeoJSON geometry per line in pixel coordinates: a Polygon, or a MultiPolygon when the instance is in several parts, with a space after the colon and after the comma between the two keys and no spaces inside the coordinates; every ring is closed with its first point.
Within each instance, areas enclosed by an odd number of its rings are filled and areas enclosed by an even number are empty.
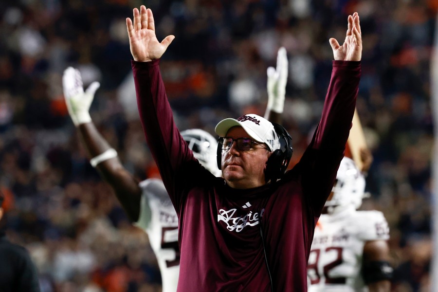
{"type": "MultiPolygon", "coordinates": [[[[180,267],[178,218],[163,182],[159,179],[136,180],[121,164],[117,152],[97,131],[89,109],[100,86],[98,82],[91,83],[84,92],[79,71],[69,67],[64,71],[62,84],[69,114],[90,157],[93,157],[91,165],[114,189],[128,218],[147,233],[160,268],[163,292],[175,292],[180,267]]],[[[186,130],[181,134],[201,164],[219,176],[217,140],[201,129],[186,130]]]]}

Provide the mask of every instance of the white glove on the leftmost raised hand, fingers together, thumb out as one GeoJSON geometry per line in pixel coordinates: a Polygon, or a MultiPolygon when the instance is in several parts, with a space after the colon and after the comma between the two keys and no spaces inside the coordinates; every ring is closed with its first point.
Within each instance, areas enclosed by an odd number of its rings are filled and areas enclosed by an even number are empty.
{"type": "Polygon", "coordinates": [[[65,103],[69,110],[74,126],[90,123],[90,106],[94,93],[100,87],[100,83],[94,81],[84,92],[82,77],[79,70],[69,67],[64,70],[62,76],[62,89],[64,91],[65,103]]]}

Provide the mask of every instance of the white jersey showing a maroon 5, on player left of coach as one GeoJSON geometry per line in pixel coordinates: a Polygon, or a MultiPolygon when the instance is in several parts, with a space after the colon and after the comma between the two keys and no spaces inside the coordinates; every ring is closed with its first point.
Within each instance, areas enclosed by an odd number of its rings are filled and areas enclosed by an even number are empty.
{"type": "Polygon", "coordinates": [[[134,225],[142,228],[157,257],[163,292],[175,292],[180,272],[178,217],[164,184],[158,179],[141,182],[140,216],[134,225]]]}

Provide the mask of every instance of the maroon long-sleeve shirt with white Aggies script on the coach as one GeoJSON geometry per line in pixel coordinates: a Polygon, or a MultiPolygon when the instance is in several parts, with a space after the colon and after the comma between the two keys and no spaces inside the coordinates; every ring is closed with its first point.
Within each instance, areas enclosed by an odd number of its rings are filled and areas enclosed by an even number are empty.
{"type": "Polygon", "coordinates": [[[274,184],[233,189],[194,158],[166,98],[159,60],[132,61],[147,144],[179,216],[178,291],[307,291],[313,230],[344,156],[360,62],[333,61],[321,121],[300,162],[274,184]]]}

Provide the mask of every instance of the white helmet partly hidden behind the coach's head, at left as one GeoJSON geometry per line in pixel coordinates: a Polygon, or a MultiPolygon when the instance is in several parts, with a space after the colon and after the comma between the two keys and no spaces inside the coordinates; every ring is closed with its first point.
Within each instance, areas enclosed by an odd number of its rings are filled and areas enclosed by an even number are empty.
{"type": "Polygon", "coordinates": [[[220,177],[222,172],[216,166],[218,141],[211,134],[201,129],[184,130],[181,135],[202,166],[215,176],[220,177]]]}

